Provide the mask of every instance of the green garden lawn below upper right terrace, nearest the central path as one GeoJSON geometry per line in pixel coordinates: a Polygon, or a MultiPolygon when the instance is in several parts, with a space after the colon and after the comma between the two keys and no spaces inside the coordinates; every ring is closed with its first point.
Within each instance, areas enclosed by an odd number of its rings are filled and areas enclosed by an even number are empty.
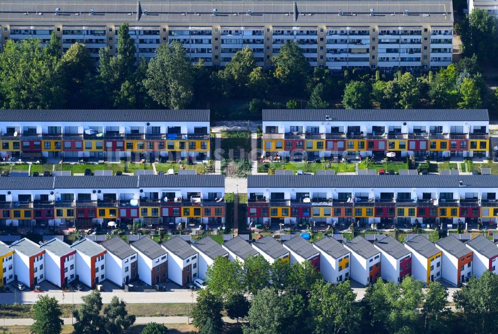
{"type": "Polygon", "coordinates": [[[355,164],[347,162],[322,162],[322,163],[307,163],[307,162],[269,162],[257,164],[257,170],[261,173],[271,173],[277,169],[293,170],[294,172],[302,170],[305,173],[316,173],[321,169],[333,169],[336,173],[355,172],[355,164]]]}

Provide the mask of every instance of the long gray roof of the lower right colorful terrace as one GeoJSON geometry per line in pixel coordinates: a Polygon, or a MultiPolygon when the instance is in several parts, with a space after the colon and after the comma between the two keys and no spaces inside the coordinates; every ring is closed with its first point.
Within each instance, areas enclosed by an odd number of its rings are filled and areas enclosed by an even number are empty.
{"type": "Polygon", "coordinates": [[[249,175],[248,188],[498,188],[498,175],[249,175]]]}

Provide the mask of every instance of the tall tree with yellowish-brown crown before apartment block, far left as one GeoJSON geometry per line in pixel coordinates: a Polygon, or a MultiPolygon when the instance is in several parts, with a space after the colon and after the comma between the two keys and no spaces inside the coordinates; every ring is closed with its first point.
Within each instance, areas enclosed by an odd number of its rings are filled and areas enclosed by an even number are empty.
{"type": "Polygon", "coordinates": [[[58,65],[58,72],[68,108],[78,109],[89,105],[93,94],[94,69],[95,62],[84,44],[74,43],[64,53],[58,65]]]}

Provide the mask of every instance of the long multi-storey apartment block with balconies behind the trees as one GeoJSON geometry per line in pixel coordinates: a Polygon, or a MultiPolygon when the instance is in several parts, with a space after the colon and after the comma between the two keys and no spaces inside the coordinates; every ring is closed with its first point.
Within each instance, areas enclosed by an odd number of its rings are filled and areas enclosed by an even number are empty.
{"type": "Polygon", "coordinates": [[[161,43],[177,40],[193,62],[220,67],[249,46],[258,65],[286,41],[295,41],[312,66],[332,70],[428,70],[447,66],[453,53],[449,0],[353,1],[139,1],[97,3],[19,0],[1,5],[1,40],[38,38],[55,31],[61,52],[84,43],[94,57],[117,49],[121,23],[130,25],[136,56],[151,58],[161,43]]]}

